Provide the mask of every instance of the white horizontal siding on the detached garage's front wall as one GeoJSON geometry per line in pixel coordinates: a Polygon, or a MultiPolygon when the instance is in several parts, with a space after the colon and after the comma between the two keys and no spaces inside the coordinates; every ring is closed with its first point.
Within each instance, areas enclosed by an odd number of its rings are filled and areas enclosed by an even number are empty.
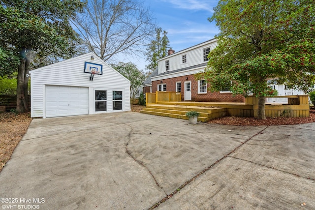
{"type": "Polygon", "coordinates": [[[130,82],[103,62],[92,53],[78,56],[69,60],[63,60],[59,63],[48,65],[31,71],[31,117],[45,116],[45,86],[76,86],[89,87],[89,114],[94,114],[95,109],[91,107],[95,100],[93,90],[107,90],[108,108],[107,112],[112,111],[112,91],[123,91],[123,111],[130,111],[130,82]],[[95,60],[91,60],[91,56],[95,60]],[[89,73],[84,73],[84,62],[93,62],[103,65],[103,75],[95,75],[93,81],[90,81],[89,73]],[[93,94],[93,95],[91,95],[93,94]]]}

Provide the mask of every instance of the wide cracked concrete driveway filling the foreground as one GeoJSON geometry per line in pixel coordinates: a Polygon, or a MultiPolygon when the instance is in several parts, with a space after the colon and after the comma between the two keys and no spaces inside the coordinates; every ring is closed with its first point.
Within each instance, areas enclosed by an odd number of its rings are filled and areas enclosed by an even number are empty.
{"type": "Polygon", "coordinates": [[[2,209],[315,210],[315,123],[34,119],[0,173],[0,198],[2,209]]]}

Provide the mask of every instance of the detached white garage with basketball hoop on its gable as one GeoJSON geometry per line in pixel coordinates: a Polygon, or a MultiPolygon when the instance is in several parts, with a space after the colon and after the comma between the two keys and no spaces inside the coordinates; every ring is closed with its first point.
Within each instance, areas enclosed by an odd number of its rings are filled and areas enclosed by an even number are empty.
{"type": "Polygon", "coordinates": [[[130,82],[93,53],[30,74],[32,118],[130,111],[130,82]]]}

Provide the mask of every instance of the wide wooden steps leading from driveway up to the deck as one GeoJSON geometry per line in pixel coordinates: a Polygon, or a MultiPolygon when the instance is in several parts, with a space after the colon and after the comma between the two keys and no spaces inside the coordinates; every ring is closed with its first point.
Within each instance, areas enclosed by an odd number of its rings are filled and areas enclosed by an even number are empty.
{"type": "Polygon", "coordinates": [[[202,107],[167,104],[146,105],[146,108],[141,110],[140,113],[188,120],[185,114],[189,111],[199,112],[200,115],[198,117],[198,121],[202,122],[207,122],[211,119],[226,116],[227,113],[226,108],[222,107],[202,107]]]}

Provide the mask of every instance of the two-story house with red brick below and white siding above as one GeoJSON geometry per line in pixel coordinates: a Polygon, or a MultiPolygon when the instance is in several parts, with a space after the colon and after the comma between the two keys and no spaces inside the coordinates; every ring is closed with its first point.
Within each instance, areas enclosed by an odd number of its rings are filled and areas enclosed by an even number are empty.
{"type": "Polygon", "coordinates": [[[205,80],[196,80],[195,74],[204,71],[209,52],[217,46],[217,39],[189,47],[175,53],[168,51],[168,56],[158,60],[158,70],[146,81],[144,92],[176,91],[182,92],[182,100],[211,102],[244,102],[242,95],[233,96],[229,90],[209,92],[205,80]]]}

